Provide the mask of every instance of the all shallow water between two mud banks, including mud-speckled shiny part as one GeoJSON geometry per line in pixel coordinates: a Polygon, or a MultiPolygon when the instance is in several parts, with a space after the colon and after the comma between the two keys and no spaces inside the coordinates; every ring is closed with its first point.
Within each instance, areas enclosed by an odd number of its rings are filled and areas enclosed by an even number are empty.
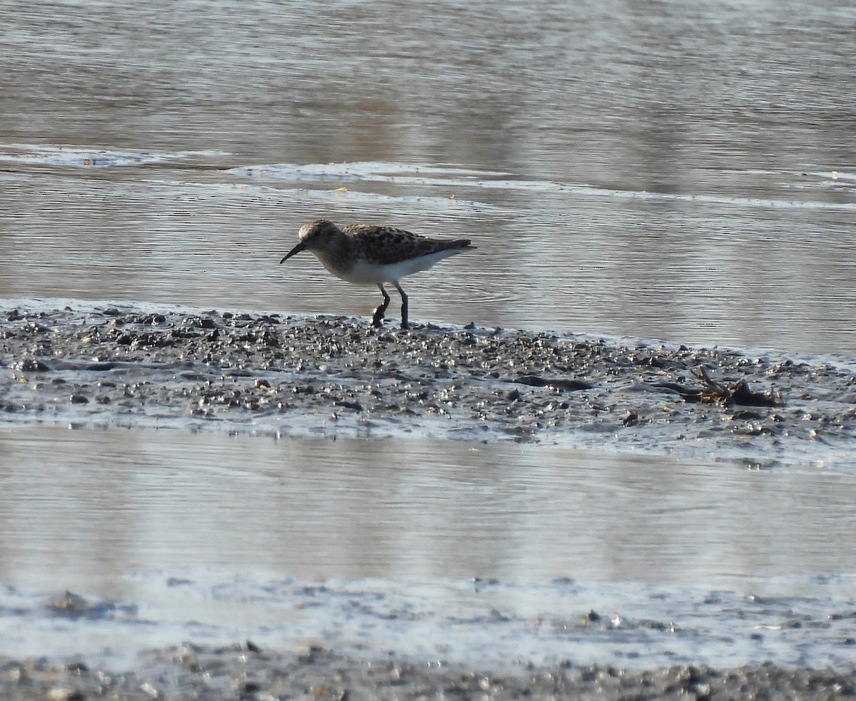
{"type": "Polygon", "coordinates": [[[0,443],[0,653],[249,638],[462,662],[849,659],[851,472],[419,439],[0,443]],[[92,609],[46,609],[64,590],[92,609]]]}

